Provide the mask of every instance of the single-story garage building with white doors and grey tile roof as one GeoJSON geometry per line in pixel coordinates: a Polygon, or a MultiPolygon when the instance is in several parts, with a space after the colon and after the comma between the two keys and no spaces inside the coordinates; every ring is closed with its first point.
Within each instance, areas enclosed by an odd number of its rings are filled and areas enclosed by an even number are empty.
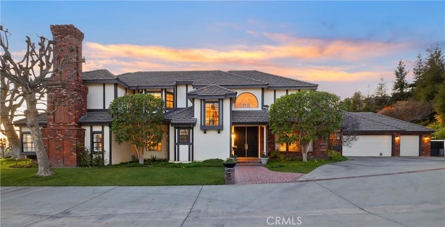
{"type": "Polygon", "coordinates": [[[356,140],[342,146],[343,156],[430,156],[431,130],[371,112],[347,112],[355,121],[356,140]]]}

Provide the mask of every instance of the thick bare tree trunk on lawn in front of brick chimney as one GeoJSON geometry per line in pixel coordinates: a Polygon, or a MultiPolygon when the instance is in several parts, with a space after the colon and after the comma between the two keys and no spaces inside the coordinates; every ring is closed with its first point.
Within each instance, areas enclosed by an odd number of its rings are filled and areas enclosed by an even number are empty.
{"type": "Polygon", "coordinates": [[[40,130],[40,125],[38,123],[38,111],[37,111],[37,100],[35,99],[35,93],[28,93],[25,96],[26,100],[26,111],[25,115],[27,118],[26,125],[31,131],[31,136],[33,138],[33,144],[35,149],[35,155],[37,155],[37,163],[39,166],[38,176],[48,176],[53,175],[54,171],[51,169],[51,164],[49,163],[47,150],[44,148],[42,130],[40,130]]]}

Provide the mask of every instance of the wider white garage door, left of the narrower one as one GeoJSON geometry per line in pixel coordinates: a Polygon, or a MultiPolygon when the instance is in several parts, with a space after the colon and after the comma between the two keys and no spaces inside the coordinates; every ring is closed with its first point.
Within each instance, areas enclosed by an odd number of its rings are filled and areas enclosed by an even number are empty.
{"type": "Polygon", "coordinates": [[[343,146],[343,156],[391,157],[392,136],[357,136],[350,147],[343,146]]]}

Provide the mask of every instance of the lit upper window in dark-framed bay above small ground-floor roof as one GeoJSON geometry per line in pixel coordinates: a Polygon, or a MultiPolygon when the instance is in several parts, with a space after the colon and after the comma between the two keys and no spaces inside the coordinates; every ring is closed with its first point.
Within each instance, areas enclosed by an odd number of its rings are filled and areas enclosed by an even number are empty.
{"type": "Polygon", "coordinates": [[[223,109],[222,100],[203,100],[202,105],[202,130],[222,130],[223,122],[221,112],[223,109]]]}

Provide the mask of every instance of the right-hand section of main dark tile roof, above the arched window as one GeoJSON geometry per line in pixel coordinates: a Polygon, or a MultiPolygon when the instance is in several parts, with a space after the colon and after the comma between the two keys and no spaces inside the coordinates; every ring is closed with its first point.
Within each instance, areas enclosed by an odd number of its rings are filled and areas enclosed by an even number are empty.
{"type": "Polygon", "coordinates": [[[238,70],[228,71],[234,75],[239,75],[249,79],[254,79],[268,84],[269,88],[290,88],[290,89],[316,89],[318,84],[312,84],[298,79],[291,79],[288,77],[280,77],[266,72],[259,72],[257,70],[238,70]]]}

